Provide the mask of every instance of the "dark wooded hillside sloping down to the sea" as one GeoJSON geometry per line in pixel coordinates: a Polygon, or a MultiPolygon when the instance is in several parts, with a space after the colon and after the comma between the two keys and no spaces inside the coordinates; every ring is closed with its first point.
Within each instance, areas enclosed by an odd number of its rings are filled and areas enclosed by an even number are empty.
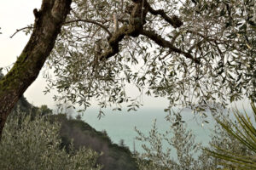
{"type": "MultiPolygon", "coordinates": [[[[107,133],[96,131],[89,124],[81,120],[67,119],[65,114],[53,115],[47,105],[42,105],[40,108],[31,105],[23,96],[15,106],[13,115],[17,112],[32,114],[40,113],[41,115],[49,115],[52,122],[61,122],[61,139],[62,147],[67,148],[67,145],[73,140],[75,149],[81,146],[90,147],[102,156],[99,157],[97,163],[102,164],[103,170],[136,170],[137,165],[132,158],[131,151],[118,144],[113,144],[107,133]]],[[[67,150],[68,151],[68,150],[67,150]]]]}

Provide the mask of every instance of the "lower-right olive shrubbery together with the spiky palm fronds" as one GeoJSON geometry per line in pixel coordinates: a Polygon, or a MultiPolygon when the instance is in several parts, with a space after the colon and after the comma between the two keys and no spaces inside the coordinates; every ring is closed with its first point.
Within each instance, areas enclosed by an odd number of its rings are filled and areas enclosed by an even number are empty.
{"type": "MultiPolygon", "coordinates": [[[[253,109],[256,111],[255,106],[253,109]]],[[[175,119],[170,120],[170,129],[165,133],[158,130],[155,121],[148,134],[136,129],[137,140],[142,142],[143,147],[143,153],[137,153],[139,169],[254,169],[254,127],[252,124],[245,126],[242,124],[245,122],[240,120],[247,119],[251,123],[251,117],[238,110],[234,111],[240,114],[236,117],[237,122],[234,122],[230,114],[215,115],[218,123],[212,129],[207,148],[195,142],[195,134],[188,129],[186,123],[173,126],[175,119]]]]}

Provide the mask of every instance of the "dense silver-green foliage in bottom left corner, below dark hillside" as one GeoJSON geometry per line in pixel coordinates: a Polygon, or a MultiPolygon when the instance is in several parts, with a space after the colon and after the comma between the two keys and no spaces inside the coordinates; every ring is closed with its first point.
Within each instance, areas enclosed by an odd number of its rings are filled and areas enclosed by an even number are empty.
{"type": "Polygon", "coordinates": [[[98,154],[90,149],[61,149],[60,124],[45,117],[9,116],[0,143],[0,169],[99,170],[98,154]]]}

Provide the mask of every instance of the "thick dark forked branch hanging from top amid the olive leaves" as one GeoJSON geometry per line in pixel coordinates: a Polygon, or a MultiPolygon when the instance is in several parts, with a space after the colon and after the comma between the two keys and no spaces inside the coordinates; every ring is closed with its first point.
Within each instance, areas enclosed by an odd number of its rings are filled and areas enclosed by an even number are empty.
{"type": "Polygon", "coordinates": [[[113,34],[113,37],[111,37],[108,41],[110,48],[98,57],[99,60],[109,59],[114,54],[118,54],[119,42],[122,41],[125,36],[138,37],[139,35],[143,35],[150,38],[161,47],[169,48],[170,51],[177,54],[183,54],[186,58],[192,59],[193,61],[195,61],[195,63],[200,64],[199,59],[195,59],[191,54],[184,52],[180,48],[176,48],[175,46],[173,46],[173,42],[166,41],[158,34],[155,34],[154,31],[143,31],[143,25],[145,24],[143,20],[145,20],[145,16],[148,12],[150,12],[151,14],[160,14],[168,23],[170,23],[174,27],[179,27],[183,25],[182,21],[179,20],[177,16],[173,16],[172,18],[170,18],[164,13],[163,10],[154,10],[153,8],[151,8],[147,1],[143,3],[142,0],[133,0],[133,2],[135,3],[135,6],[132,9],[131,21],[129,25],[122,26],[119,31],[113,34]],[[143,14],[143,16],[141,16],[141,14],[143,14]],[[135,20],[137,18],[139,18],[140,20],[135,20]]]}

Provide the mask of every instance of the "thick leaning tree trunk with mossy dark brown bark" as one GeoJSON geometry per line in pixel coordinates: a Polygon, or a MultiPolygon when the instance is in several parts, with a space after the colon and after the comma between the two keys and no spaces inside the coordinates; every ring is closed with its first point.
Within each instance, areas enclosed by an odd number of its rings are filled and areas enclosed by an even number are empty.
{"type": "Polygon", "coordinates": [[[20,96],[36,80],[45,60],[54,48],[61,26],[70,11],[72,0],[43,0],[34,9],[32,36],[13,68],[0,81],[0,140],[3,127],[20,96]]]}

